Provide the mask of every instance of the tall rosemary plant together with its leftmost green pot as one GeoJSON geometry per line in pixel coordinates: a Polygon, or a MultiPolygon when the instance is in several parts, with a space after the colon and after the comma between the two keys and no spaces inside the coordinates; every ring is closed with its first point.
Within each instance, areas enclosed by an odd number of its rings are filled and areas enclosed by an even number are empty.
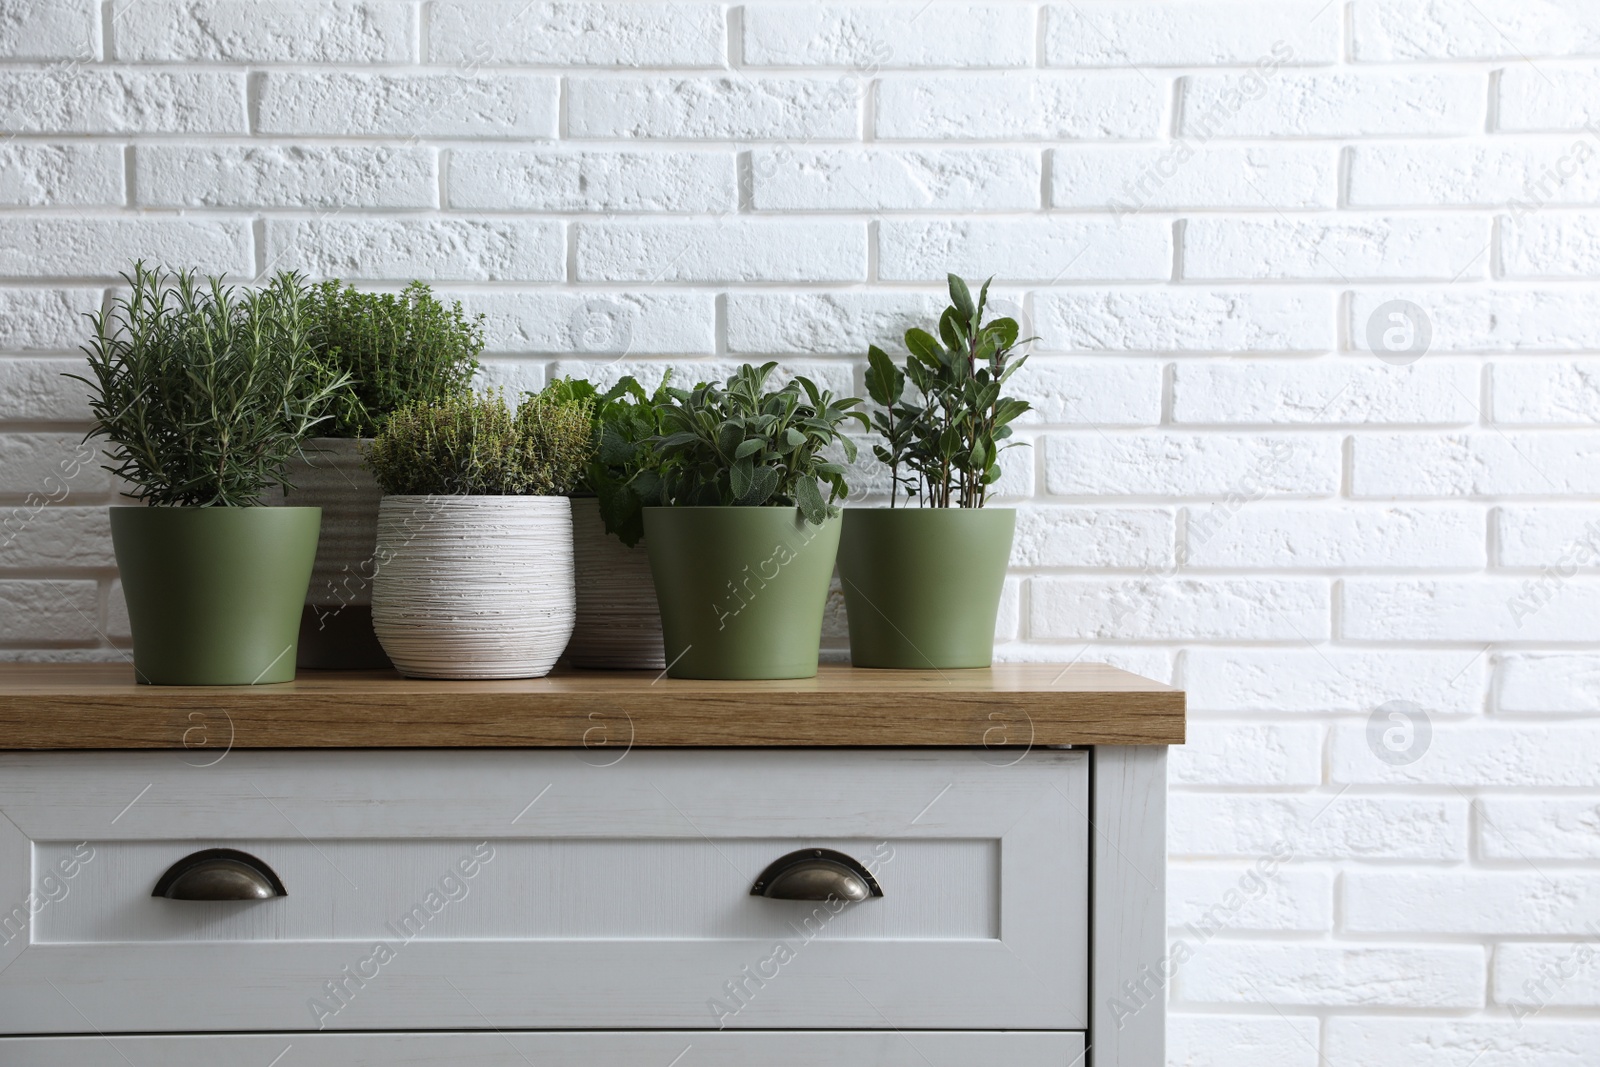
{"type": "Polygon", "coordinates": [[[112,507],[133,665],[155,685],[294,678],[317,507],[258,507],[344,381],[312,358],[304,290],[197,283],[134,264],[83,347],[107,467],[144,507],[112,507]]]}

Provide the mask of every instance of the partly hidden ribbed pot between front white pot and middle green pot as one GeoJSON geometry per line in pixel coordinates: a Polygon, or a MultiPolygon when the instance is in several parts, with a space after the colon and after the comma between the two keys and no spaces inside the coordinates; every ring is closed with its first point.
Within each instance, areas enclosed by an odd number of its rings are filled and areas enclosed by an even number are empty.
{"type": "Polygon", "coordinates": [[[566,646],[574,667],[661,670],[661,608],[643,544],[629,549],[605,530],[600,501],[573,501],[578,625],[566,646]]]}

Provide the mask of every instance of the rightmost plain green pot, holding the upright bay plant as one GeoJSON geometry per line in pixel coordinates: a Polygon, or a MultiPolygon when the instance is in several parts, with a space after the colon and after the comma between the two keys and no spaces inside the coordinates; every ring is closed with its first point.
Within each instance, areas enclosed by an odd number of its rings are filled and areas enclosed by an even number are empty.
{"type": "Polygon", "coordinates": [[[1005,507],[851,507],[838,577],[858,667],[987,667],[1011,558],[1005,507]]]}

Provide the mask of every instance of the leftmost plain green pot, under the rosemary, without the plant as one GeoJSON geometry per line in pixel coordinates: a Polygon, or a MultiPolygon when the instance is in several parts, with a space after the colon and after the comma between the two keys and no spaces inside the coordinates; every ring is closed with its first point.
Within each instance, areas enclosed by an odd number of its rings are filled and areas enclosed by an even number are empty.
{"type": "Polygon", "coordinates": [[[320,525],[320,507],[110,509],[138,680],[293,681],[320,525]]]}

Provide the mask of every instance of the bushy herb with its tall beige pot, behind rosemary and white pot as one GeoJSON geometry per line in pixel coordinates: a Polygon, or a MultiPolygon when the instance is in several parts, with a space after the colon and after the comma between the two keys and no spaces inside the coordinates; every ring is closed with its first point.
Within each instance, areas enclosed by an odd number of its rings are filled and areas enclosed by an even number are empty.
{"type": "Polygon", "coordinates": [[[478,370],[483,328],[413,282],[400,293],[362,293],[338,280],[309,291],[318,362],[349,381],[334,392],[323,437],[290,464],[290,504],[322,507],[322,542],[301,617],[301,667],[387,667],[373,635],[378,501],[360,451],[389,413],[464,395],[478,370]]]}

